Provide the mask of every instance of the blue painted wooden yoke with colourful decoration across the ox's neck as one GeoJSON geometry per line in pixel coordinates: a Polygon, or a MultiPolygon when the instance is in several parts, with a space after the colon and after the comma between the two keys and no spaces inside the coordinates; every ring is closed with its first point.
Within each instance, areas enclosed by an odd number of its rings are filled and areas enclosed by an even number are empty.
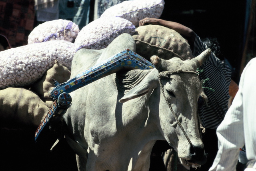
{"type": "Polygon", "coordinates": [[[44,120],[36,130],[35,141],[38,140],[40,133],[45,127],[60,121],[64,113],[66,113],[67,109],[71,106],[72,98],[68,93],[119,70],[150,70],[152,68],[154,68],[154,65],[151,62],[135,52],[125,49],[107,60],[96,64],[96,66],[89,68],[82,74],[78,74],[75,78],[72,78],[67,82],[59,84],[53,79],[56,87],[49,91],[48,94],[54,102],[44,120]]]}

